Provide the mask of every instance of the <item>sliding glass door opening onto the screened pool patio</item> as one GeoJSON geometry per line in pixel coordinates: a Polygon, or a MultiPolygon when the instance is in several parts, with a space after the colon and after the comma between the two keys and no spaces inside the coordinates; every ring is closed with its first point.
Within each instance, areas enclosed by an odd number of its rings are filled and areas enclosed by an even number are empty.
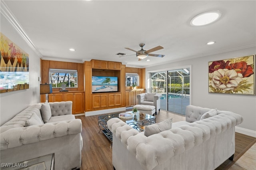
{"type": "Polygon", "coordinates": [[[151,73],[151,93],[162,93],[161,107],[185,115],[190,104],[190,68],[151,73]]]}

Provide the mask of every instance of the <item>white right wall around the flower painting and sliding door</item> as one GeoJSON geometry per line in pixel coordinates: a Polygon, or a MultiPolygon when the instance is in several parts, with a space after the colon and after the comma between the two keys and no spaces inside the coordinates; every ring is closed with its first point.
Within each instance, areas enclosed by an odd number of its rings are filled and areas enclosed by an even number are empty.
{"type": "MultiPolygon", "coordinates": [[[[256,96],[248,95],[232,95],[232,94],[212,94],[208,93],[208,62],[222,59],[230,59],[234,57],[243,57],[256,54],[256,47],[220,53],[188,59],[185,61],[177,61],[166,63],[154,67],[147,67],[146,73],[154,70],[163,70],[163,68],[176,68],[191,65],[191,105],[217,108],[219,110],[232,111],[242,115],[244,121],[238,127],[249,129],[253,133],[256,132],[256,96]]],[[[168,57],[168,56],[166,56],[168,57]]],[[[254,65],[255,67],[255,65],[254,65]]],[[[146,83],[150,78],[146,74],[146,83]]],[[[255,76],[255,73],[254,73],[255,76]]],[[[149,85],[146,84],[146,87],[149,85]]]]}

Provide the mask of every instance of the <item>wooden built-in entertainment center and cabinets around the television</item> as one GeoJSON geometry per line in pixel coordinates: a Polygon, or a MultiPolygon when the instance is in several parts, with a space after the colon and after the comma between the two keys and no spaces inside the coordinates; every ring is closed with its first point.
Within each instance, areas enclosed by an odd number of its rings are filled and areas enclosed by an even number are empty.
{"type": "MultiPolygon", "coordinates": [[[[145,69],[126,67],[120,62],[94,60],[84,63],[41,60],[41,83],[49,83],[49,69],[75,69],[78,71],[78,87],[66,88],[68,92],[60,92],[53,88],[48,101],[72,101],[73,114],[94,112],[105,109],[131,107],[138,103],[136,95],[145,92],[145,69]],[[138,73],[140,86],[138,89],[126,87],[126,73],[138,73]],[[118,90],[115,92],[92,92],[92,76],[118,77],[118,90]]],[[[45,95],[41,95],[41,102],[45,95]]]]}

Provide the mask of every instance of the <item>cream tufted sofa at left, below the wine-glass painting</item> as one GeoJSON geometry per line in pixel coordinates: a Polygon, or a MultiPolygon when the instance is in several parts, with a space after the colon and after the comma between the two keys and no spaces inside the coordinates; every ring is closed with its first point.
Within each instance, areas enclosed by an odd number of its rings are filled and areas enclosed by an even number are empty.
{"type": "Polygon", "coordinates": [[[82,121],[72,115],[72,101],[49,103],[52,117],[44,123],[42,103],[34,104],[0,127],[1,163],[18,163],[54,153],[56,170],[81,166],[82,121]],[[36,114],[42,121],[24,127],[36,114]]]}

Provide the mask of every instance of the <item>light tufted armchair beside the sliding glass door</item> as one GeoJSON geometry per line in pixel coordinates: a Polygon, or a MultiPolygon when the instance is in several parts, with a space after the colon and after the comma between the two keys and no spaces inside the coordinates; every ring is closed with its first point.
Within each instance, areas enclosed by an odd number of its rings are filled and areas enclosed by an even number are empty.
{"type": "Polygon", "coordinates": [[[159,93],[141,93],[137,95],[139,105],[151,105],[156,107],[157,111],[160,111],[160,97],[162,94],[159,93]]]}

